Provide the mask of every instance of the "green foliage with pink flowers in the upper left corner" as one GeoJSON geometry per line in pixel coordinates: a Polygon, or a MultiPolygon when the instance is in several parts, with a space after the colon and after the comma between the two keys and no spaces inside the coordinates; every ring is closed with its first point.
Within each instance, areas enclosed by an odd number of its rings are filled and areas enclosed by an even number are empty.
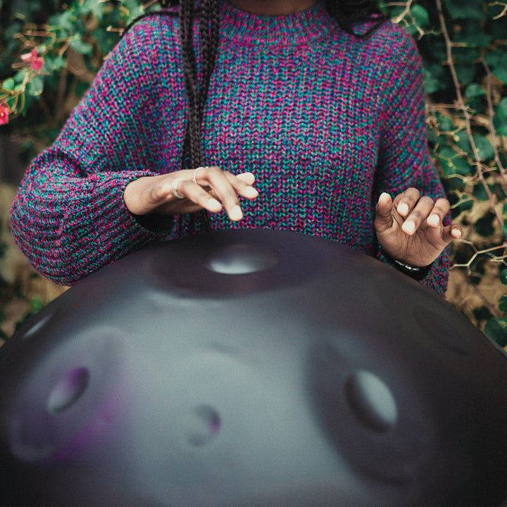
{"type": "Polygon", "coordinates": [[[136,0],[0,0],[0,124],[19,139],[24,163],[54,141],[142,12],[136,0]]]}

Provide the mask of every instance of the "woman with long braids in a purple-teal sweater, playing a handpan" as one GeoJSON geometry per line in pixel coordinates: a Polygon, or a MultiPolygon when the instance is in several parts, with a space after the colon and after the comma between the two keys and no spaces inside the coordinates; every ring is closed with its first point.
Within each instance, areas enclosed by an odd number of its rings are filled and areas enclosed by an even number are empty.
{"type": "Polygon", "coordinates": [[[35,267],[72,284],[150,242],[268,227],[349,244],[443,295],[461,230],[444,224],[413,40],[369,1],[200,11],[194,23],[181,0],[139,20],[30,165],[11,227],[35,267]]]}

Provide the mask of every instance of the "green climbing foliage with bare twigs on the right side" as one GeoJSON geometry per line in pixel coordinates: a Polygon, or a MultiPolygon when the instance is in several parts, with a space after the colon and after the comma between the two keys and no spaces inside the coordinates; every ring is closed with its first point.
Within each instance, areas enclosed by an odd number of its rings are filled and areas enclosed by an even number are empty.
{"type": "MultiPolygon", "coordinates": [[[[464,239],[453,269],[482,304],[470,318],[507,345],[507,296],[481,294],[487,271],[507,284],[507,1],[403,0],[382,7],[423,58],[432,157],[464,239]]],[[[500,287],[501,284],[499,284],[500,287]]],[[[505,288],[505,286],[503,286],[505,288]]]]}

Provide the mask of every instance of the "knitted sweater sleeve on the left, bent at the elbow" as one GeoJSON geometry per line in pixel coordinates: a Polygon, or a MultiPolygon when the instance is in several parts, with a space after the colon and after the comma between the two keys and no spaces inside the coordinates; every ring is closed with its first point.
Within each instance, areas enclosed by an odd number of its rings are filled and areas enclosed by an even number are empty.
{"type": "Polygon", "coordinates": [[[117,44],[56,142],[35,158],[20,184],[13,237],[56,283],[73,284],[175,227],[168,217],[149,230],[123,201],[129,182],[161,172],[151,149],[158,23],[143,20],[117,44]]]}

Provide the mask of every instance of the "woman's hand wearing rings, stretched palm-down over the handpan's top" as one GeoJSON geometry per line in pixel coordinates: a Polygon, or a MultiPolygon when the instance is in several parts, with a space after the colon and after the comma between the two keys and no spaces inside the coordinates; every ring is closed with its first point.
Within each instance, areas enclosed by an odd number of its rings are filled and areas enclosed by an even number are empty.
{"type": "Polygon", "coordinates": [[[180,215],[225,208],[231,220],[243,218],[238,196],[256,199],[252,173],[233,175],[218,167],[184,169],[157,176],[144,176],[127,184],[123,199],[134,215],[180,215]],[[178,196],[181,196],[182,199],[178,196]]]}

